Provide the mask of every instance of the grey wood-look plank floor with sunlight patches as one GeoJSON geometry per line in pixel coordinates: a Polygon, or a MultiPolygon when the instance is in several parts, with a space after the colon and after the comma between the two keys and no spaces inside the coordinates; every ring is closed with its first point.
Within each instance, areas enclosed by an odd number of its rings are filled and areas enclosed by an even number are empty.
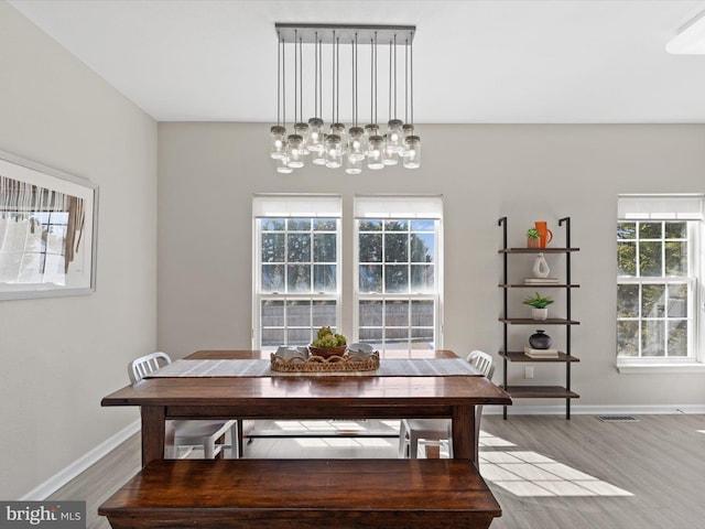
{"type": "MultiPolygon", "coordinates": [[[[503,511],[491,529],[703,529],[705,415],[637,417],[485,415],[480,472],[503,511]]],[[[96,510],[137,472],[139,450],[135,435],[51,499],[85,499],[87,527],[108,529],[96,510]]],[[[245,456],[395,457],[397,440],[256,439],[245,456]]]]}

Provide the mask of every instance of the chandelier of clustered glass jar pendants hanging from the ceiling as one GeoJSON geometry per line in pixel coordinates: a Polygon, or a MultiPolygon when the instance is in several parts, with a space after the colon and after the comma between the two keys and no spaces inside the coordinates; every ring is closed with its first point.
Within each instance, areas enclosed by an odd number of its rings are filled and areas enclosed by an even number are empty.
{"type": "Polygon", "coordinates": [[[270,129],[270,156],[278,172],[291,173],[308,161],[348,174],[400,163],[421,166],[421,138],[413,125],[414,25],[276,23],[275,29],[276,125],[270,129]],[[403,120],[398,114],[402,99],[403,120]],[[365,125],[360,104],[369,108],[365,125]],[[380,126],[378,110],[384,104],[387,123],[380,126]],[[341,106],[349,127],[340,122],[341,106]]]}

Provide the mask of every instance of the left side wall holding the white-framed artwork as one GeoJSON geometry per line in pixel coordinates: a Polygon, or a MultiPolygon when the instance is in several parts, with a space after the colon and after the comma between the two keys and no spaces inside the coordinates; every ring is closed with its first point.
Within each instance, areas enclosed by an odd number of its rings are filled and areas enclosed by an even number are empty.
{"type": "Polygon", "coordinates": [[[101,408],[156,336],[156,123],[0,1],[0,150],[100,186],[97,291],[0,301],[0,498],[139,415],[101,408]]]}

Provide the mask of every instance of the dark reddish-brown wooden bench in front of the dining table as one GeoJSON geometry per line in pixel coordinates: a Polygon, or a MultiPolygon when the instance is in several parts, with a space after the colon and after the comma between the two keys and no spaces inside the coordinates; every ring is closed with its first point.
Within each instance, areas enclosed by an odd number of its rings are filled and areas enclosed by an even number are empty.
{"type": "Polygon", "coordinates": [[[466,460],[160,460],[98,509],[113,529],[488,528],[466,460]]]}

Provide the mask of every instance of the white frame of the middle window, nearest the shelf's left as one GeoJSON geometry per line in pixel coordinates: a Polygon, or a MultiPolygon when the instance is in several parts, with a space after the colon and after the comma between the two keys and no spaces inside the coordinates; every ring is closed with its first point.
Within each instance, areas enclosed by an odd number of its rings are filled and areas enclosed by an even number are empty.
{"type": "MultiPolygon", "coordinates": [[[[354,257],[354,341],[360,337],[359,306],[361,301],[427,301],[434,302],[434,343],[436,349],[443,348],[443,196],[442,195],[357,195],[355,197],[355,257],[354,257]],[[435,262],[433,293],[376,293],[360,292],[359,281],[359,235],[360,220],[366,218],[386,220],[427,219],[435,223],[435,262]]],[[[383,316],[382,316],[383,317],[383,316]]],[[[383,328],[382,323],[382,328],[383,328]]],[[[413,328],[413,327],[412,327],[413,328]]]]}

